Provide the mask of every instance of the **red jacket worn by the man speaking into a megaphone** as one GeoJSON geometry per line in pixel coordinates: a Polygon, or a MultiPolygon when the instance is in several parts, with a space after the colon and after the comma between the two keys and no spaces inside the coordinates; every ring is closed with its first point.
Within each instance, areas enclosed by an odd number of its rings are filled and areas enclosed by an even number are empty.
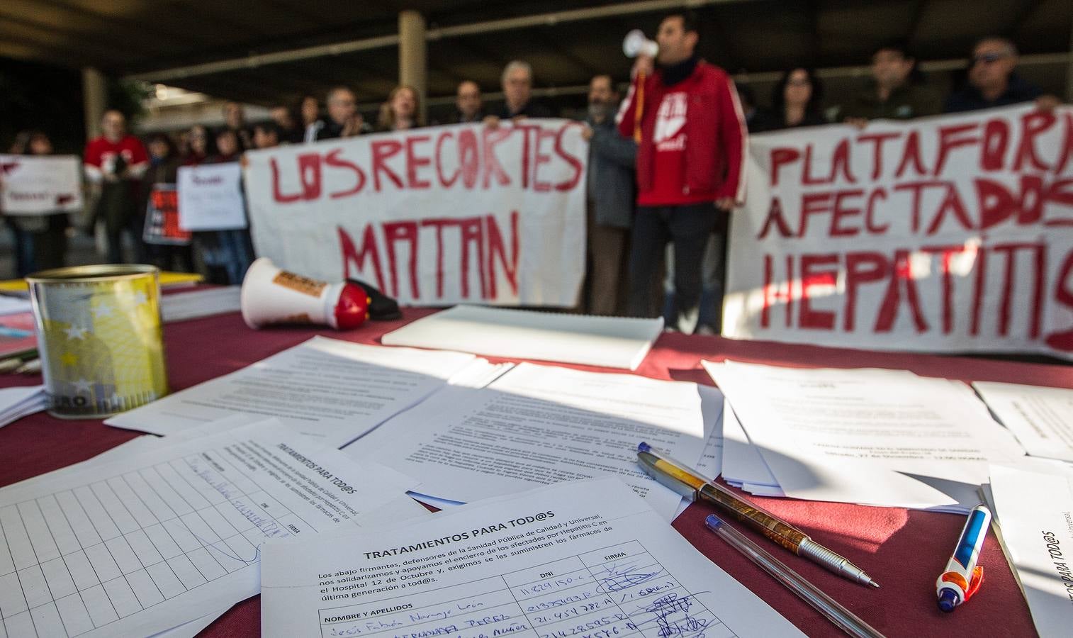
{"type": "MultiPolygon", "coordinates": [[[[637,79],[618,114],[618,130],[633,137],[637,79]]],[[[722,69],[701,60],[689,77],[674,86],[664,86],[659,69],[646,78],[644,110],[641,121],[641,144],[637,148],[637,203],[641,205],[677,205],[697,201],[734,198],[745,199],[745,158],[748,137],[745,115],[738,103],[734,83],[722,69]],[[684,125],[685,153],[681,195],[674,201],[651,200],[657,166],[657,112],[664,96],[687,93],[684,125]],[[646,198],[646,193],[649,194],[646,198]]]]}

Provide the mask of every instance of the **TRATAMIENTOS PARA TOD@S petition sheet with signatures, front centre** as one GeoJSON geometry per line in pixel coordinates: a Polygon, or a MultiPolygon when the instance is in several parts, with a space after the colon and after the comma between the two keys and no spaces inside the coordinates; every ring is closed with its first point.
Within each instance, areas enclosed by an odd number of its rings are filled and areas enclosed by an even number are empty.
{"type": "Polygon", "coordinates": [[[614,477],[269,542],[261,585],[268,638],[802,635],[614,477]]]}

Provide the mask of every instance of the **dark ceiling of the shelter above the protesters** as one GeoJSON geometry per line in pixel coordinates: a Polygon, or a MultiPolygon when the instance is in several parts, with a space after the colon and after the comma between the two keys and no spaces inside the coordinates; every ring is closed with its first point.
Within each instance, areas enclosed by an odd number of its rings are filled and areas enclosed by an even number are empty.
{"type": "MultiPolygon", "coordinates": [[[[397,32],[398,13],[421,12],[430,29],[615,2],[457,0],[2,0],[0,56],[144,74],[397,32]]],[[[642,4],[642,3],[627,3],[642,4]]],[[[665,4],[665,3],[664,3],[665,4]]],[[[684,3],[685,4],[685,3],[684,3]]],[[[538,87],[583,85],[598,72],[624,78],[620,49],[632,28],[655,33],[667,10],[428,42],[428,95],[453,95],[464,78],[499,90],[503,64],[532,63],[538,87]]],[[[1070,0],[726,0],[696,9],[701,53],[732,72],[867,63],[872,48],[908,39],[922,60],[960,58],[985,34],[1012,38],[1023,54],[1070,50],[1070,0]]],[[[398,77],[394,46],[226,71],[167,84],[271,104],[337,84],[363,102],[398,77]]]]}

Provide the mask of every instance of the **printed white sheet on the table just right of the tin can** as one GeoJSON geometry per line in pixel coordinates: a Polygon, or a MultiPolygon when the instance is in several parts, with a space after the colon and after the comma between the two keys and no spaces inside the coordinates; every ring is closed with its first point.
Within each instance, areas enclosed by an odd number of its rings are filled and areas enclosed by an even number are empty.
{"type": "Polygon", "coordinates": [[[170,435],[247,412],[276,417],[338,448],[425,398],[474,360],[461,352],[313,337],[105,423],[170,435]]]}

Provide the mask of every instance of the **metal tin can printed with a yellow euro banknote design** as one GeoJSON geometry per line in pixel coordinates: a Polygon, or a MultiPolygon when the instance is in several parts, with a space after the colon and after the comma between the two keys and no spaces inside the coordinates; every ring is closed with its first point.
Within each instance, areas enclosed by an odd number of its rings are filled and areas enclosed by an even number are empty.
{"type": "Polygon", "coordinates": [[[49,414],[99,419],[167,394],[158,269],[73,266],[26,279],[49,414]]]}

